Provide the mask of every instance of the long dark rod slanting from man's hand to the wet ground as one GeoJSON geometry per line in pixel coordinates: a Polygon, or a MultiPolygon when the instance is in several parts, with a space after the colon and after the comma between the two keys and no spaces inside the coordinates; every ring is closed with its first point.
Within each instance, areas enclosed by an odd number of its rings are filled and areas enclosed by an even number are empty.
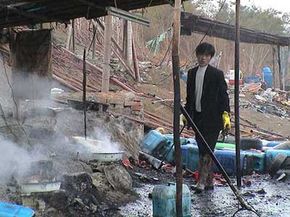
{"type": "Polygon", "coordinates": [[[187,119],[189,125],[191,127],[193,127],[194,131],[197,132],[199,134],[199,136],[201,137],[201,139],[203,140],[203,142],[205,144],[205,148],[209,152],[210,157],[212,158],[212,160],[214,161],[215,165],[217,166],[217,168],[219,169],[219,171],[222,173],[223,177],[225,178],[226,182],[230,186],[231,190],[233,191],[233,193],[235,194],[235,196],[239,200],[242,208],[243,209],[246,209],[246,210],[249,210],[249,211],[252,211],[252,212],[256,213],[259,216],[259,214],[257,213],[257,211],[251,205],[249,205],[249,204],[246,203],[246,201],[244,200],[244,198],[240,195],[238,189],[232,184],[232,182],[231,182],[231,180],[230,180],[227,172],[224,170],[223,166],[221,165],[221,163],[218,161],[218,159],[214,155],[213,151],[211,150],[211,148],[209,147],[207,141],[204,139],[203,135],[201,134],[201,132],[197,128],[196,124],[193,122],[193,120],[191,119],[191,117],[189,116],[189,114],[187,113],[187,111],[185,110],[185,108],[183,108],[183,106],[181,104],[180,104],[180,109],[181,109],[181,113],[187,119]]]}

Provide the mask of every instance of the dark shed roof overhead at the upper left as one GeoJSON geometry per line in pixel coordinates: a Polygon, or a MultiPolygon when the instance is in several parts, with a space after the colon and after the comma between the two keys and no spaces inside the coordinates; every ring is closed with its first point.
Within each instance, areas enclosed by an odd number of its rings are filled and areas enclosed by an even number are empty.
{"type": "Polygon", "coordinates": [[[0,28],[97,18],[106,15],[108,6],[128,11],[170,2],[173,0],[1,0],[0,28]]]}

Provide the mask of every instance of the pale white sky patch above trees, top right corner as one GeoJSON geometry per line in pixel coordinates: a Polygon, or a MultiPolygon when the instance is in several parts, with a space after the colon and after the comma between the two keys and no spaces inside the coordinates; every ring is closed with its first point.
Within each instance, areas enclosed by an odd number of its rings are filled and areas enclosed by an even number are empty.
{"type": "Polygon", "coordinates": [[[241,5],[256,5],[262,9],[273,8],[277,11],[290,13],[289,0],[241,0],[241,5]]]}

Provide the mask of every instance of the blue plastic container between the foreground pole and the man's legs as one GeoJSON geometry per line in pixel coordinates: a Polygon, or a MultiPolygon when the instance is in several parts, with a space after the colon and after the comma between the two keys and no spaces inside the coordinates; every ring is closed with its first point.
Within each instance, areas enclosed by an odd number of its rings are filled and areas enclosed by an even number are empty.
{"type": "Polygon", "coordinates": [[[186,144],[181,146],[182,164],[191,171],[197,170],[199,153],[198,146],[186,144]]]}

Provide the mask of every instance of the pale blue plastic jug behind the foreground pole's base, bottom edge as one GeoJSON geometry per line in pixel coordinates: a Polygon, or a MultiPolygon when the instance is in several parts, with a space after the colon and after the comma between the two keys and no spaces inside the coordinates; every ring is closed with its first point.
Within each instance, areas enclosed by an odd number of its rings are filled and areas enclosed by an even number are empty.
{"type": "MultiPolygon", "coordinates": [[[[153,217],[176,217],[176,185],[155,186],[152,192],[153,217]]],[[[182,216],[191,217],[191,197],[187,185],[182,185],[182,216]]]]}

